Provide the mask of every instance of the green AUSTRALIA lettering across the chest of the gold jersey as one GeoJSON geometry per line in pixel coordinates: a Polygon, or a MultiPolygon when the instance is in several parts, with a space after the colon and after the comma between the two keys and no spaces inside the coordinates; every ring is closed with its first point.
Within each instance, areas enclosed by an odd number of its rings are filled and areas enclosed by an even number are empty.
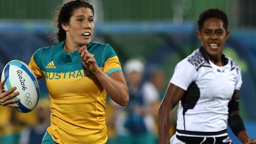
{"type": "Polygon", "coordinates": [[[93,76],[91,70],[75,70],[69,72],[45,72],[46,79],[67,79],[93,76]]]}

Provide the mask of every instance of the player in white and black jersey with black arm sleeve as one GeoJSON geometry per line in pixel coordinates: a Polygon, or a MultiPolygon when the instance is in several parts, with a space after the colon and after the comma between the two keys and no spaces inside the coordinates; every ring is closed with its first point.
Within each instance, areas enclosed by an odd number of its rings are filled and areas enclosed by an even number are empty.
{"type": "Polygon", "coordinates": [[[239,116],[240,67],[222,54],[228,39],[228,18],[207,9],[198,19],[202,46],[180,61],[159,108],[159,144],[169,143],[171,110],[179,104],[171,144],[232,144],[227,124],[243,144],[256,144],[239,116]]]}

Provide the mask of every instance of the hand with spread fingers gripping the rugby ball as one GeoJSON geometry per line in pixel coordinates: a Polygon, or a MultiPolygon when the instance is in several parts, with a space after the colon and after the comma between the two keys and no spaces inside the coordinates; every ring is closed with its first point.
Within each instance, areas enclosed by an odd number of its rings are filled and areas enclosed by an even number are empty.
{"type": "Polygon", "coordinates": [[[15,104],[20,101],[19,98],[13,99],[15,96],[19,95],[19,92],[14,92],[17,88],[13,87],[6,92],[3,92],[4,83],[6,81],[0,82],[0,105],[9,106],[9,107],[19,107],[19,105],[15,104]],[[14,93],[13,93],[14,92],[14,93]]]}

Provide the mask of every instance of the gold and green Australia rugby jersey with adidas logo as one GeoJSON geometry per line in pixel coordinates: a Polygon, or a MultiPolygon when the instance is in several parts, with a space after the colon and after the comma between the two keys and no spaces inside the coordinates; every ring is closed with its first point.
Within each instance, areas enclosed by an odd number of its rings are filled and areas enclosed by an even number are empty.
{"type": "MultiPolygon", "coordinates": [[[[46,80],[52,112],[47,131],[60,144],[105,144],[106,91],[83,67],[78,50],[67,54],[62,49],[64,42],[37,50],[29,64],[46,80]]],[[[106,74],[122,70],[109,44],[90,42],[87,49],[106,74]]]]}

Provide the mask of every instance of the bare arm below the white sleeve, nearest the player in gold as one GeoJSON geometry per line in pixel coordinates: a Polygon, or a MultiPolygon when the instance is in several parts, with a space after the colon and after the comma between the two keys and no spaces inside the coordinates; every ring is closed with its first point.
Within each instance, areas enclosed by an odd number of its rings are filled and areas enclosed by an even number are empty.
{"type": "Polygon", "coordinates": [[[170,83],[158,111],[158,143],[169,144],[171,110],[178,104],[186,90],[170,83]]]}

